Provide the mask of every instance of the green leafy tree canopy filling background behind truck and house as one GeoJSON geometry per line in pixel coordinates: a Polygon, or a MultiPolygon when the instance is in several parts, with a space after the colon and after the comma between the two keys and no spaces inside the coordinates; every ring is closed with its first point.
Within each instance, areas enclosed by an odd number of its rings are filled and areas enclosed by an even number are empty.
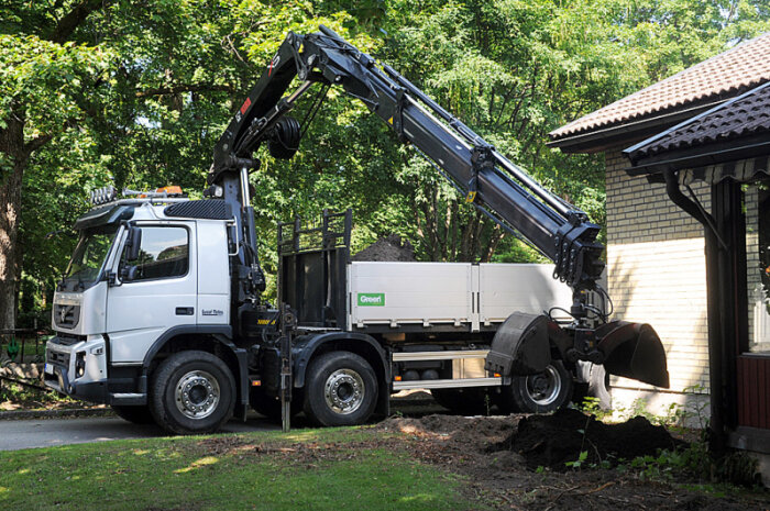
{"type": "MultiPolygon", "coordinates": [[[[602,160],[552,151],[547,133],[767,31],[769,14],[768,0],[3,2],[3,325],[20,293],[22,313],[50,301],[90,189],[200,193],[216,141],[289,30],[332,27],[603,224],[602,160]]],[[[258,157],[268,273],[275,223],[323,208],[354,210],[354,248],[397,233],[421,259],[538,259],[340,91],[294,159],[258,157]]]]}

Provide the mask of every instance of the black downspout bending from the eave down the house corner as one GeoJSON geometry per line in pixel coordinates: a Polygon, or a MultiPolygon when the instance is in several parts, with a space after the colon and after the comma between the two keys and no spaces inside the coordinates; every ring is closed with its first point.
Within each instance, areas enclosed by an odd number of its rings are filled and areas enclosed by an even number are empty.
{"type": "Polygon", "coordinates": [[[684,212],[703,224],[705,234],[705,256],[706,256],[706,314],[708,323],[708,385],[711,422],[710,449],[716,455],[722,455],[725,451],[725,418],[724,418],[724,389],[722,374],[724,367],[724,343],[722,335],[722,319],[717,298],[719,288],[719,245],[724,242],[716,231],[716,223],[707,211],[700,204],[688,198],[679,186],[676,173],[672,169],[663,170],[666,179],[666,192],[671,201],[679,205],[684,212]]]}

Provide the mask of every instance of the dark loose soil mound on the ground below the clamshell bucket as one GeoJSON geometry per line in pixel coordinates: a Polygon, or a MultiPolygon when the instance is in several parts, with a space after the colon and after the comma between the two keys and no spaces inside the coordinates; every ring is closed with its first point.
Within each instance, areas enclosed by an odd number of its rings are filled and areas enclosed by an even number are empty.
{"type": "Polygon", "coordinates": [[[632,459],[654,455],[658,449],[673,449],[684,442],[674,440],[666,427],[656,426],[644,416],[620,424],[605,424],[578,410],[560,410],[552,415],[521,419],[518,430],[491,451],[508,449],[524,456],[529,468],[539,466],[566,470],[568,462],[587,453],[585,464],[632,459]]]}

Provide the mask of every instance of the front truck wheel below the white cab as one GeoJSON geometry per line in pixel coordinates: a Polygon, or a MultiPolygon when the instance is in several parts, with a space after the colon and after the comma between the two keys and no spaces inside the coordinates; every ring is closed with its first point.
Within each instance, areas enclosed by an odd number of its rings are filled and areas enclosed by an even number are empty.
{"type": "Polygon", "coordinates": [[[235,408],[235,379],[220,358],[207,352],[176,353],[157,367],[150,389],[150,411],[169,433],[217,431],[235,408]]]}

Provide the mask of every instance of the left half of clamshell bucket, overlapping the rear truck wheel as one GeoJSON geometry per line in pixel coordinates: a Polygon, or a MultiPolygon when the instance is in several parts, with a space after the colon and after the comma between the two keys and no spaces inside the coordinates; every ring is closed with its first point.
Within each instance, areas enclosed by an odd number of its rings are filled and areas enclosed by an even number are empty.
{"type": "Polygon", "coordinates": [[[536,375],[551,362],[544,314],[514,312],[495,333],[484,368],[503,376],[536,375]]]}

